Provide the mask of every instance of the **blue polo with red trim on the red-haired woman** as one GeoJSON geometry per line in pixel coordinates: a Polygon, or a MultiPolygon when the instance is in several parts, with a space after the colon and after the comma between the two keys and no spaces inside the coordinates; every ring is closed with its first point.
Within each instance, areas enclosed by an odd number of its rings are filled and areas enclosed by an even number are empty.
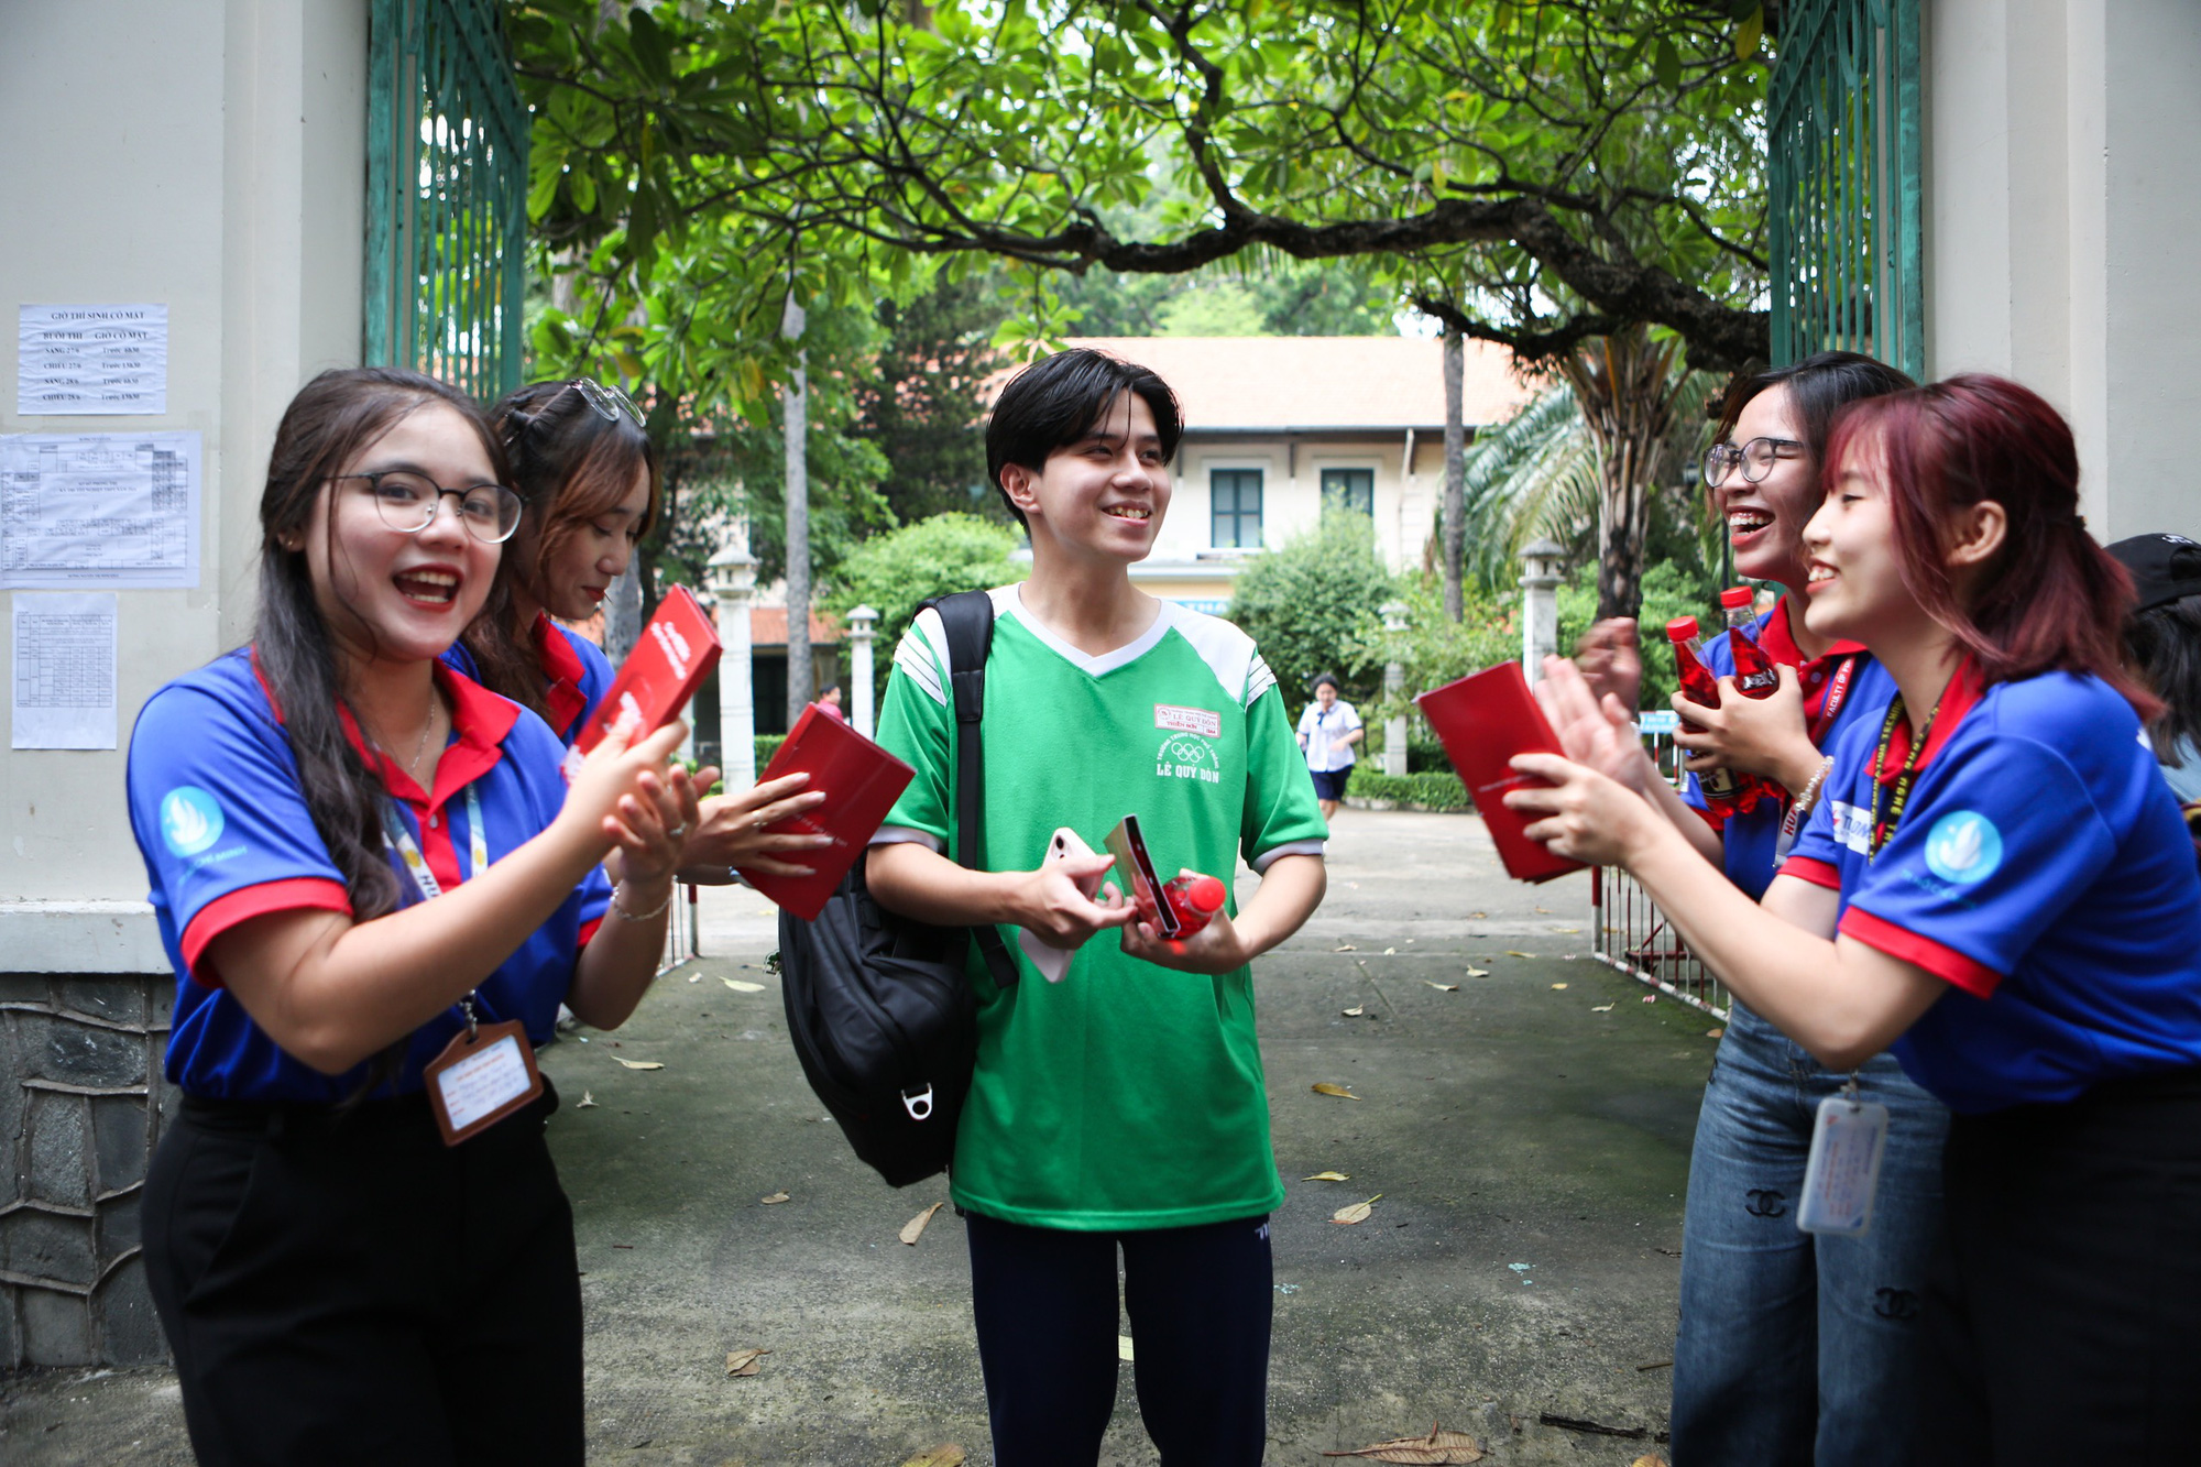
{"type": "Polygon", "coordinates": [[[1893,1044],[1904,1071],[1985,1112],[2201,1064],[2201,877],[2133,707],[2093,676],[1981,689],[1965,665],[1866,859],[1873,791],[1910,756],[1906,720],[1875,760],[1880,727],[1842,734],[1781,874],[1840,890],[1838,932],[1954,989],[1893,1044]]]}

